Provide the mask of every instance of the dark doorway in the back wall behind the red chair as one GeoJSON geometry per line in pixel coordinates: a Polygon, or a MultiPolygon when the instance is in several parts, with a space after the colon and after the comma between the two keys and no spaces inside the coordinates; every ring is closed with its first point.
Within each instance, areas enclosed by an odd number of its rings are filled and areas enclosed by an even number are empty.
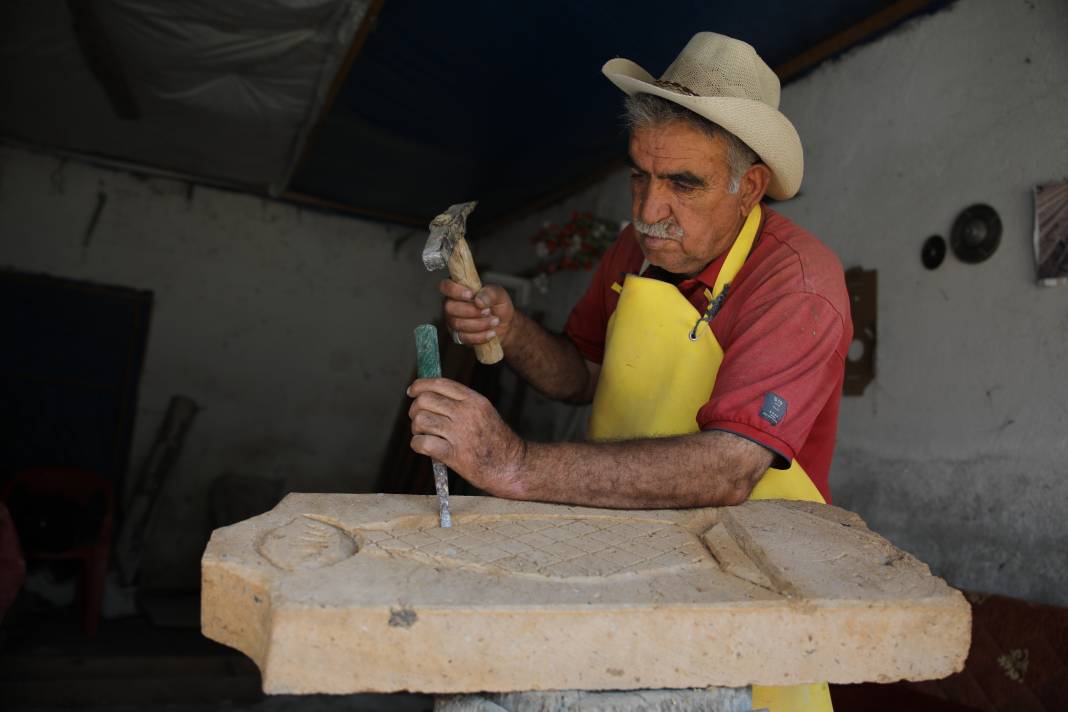
{"type": "Polygon", "coordinates": [[[152,292],[0,271],[0,482],[96,472],[123,491],[152,292]]]}

